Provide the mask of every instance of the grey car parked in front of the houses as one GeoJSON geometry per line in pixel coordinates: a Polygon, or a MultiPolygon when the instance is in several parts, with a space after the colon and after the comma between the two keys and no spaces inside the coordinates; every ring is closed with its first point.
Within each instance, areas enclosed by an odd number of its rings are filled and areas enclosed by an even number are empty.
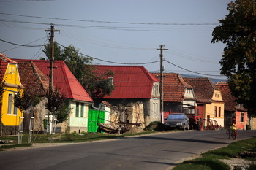
{"type": "Polygon", "coordinates": [[[184,113],[173,113],[165,120],[165,129],[179,128],[189,130],[189,117],[184,113]]]}

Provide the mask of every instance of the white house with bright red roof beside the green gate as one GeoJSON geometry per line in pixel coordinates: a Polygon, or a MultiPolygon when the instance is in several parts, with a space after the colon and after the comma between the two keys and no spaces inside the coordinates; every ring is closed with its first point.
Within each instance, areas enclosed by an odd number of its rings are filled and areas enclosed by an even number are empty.
{"type": "MultiPolygon", "coordinates": [[[[19,60],[15,60],[18,61],[19,60]]],[[[47,77],[50,72],[50,62],[44,60],[20,60],[31,62],[37,67],[40,72],[47,77]]],[[[67,121],[67,128],[69,132],[87,131],[88,129],[88,109],[89,104],[93,100],[80,85],[80,82],[75,78],[72,72],[67,67],[64,61],[54,61],[53,63],[53,86],[58,88],[61,94],[67,98],[70,108],[72,108],[71,115],[67,121]]],[[[49,77],[48,77],[49,78],[49,77]]],[[[44,83],[45,84],[45,83],[44,83]]]]}

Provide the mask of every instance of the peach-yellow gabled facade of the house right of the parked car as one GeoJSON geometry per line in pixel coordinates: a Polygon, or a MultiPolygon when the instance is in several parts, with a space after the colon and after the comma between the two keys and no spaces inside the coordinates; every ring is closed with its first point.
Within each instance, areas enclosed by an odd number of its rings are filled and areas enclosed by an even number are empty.
{"type": "Polygon", "coordinates": [[[219,90],[214,90],[211,104],[206,104],[204,118],[216,120],[218,125],[224,127],[224,104],[222,93],[219,90]]]}

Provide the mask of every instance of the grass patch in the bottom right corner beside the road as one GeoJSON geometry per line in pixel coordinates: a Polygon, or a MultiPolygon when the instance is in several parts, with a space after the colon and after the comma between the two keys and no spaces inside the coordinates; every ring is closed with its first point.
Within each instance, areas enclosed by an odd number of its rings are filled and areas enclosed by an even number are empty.
{"type": "MultiPolygon", "coordinates": [[[[233,142],[227,147],[205,152],[201,154],[202,158],[184,161],[180,165],[176,166],[173,170],[230,169],[226,163],[222,163],[222,161],[219,161],[219,159],[241,158],[241,152],[256,152],[256,138],[233,142]]],[[[252,157],[244,159],[256,161],[256,155],[254,154],[252,157]]],[[[251,165],[249,169],[256,169],[256,165],[251,165]]]]}

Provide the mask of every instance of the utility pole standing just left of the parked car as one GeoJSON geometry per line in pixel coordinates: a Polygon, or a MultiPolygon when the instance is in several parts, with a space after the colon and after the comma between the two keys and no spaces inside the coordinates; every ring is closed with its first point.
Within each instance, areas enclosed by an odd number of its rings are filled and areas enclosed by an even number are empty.
{"type": "Polygon", "coordinates": [[[160,82],[159,82],[159,90],[160,90],[160,112],[161,112],[161,122],[164,123],[164,83],[163,83],[163,72],[164,72],[164,66],[162,65],[162,61],[163,61],[163,56],[162,56],[162,51],[164,50],[168,50],[165,47],[165,45],[159,45],[159,49],[160,50],[160,82]]]}

